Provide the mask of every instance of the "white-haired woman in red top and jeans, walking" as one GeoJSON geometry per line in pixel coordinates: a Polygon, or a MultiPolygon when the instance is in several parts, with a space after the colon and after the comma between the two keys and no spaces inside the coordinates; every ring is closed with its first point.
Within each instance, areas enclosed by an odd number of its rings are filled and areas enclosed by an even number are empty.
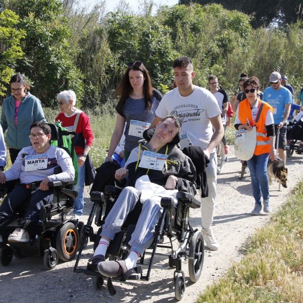
{"type": "Polygon", "coordinates": [[[73,90],[64,90],[57,95],[60,113],[56,121],[62,122],[62,126],[78,134],[75,144],[75,151],[78,157],[78,181],[74,190],[78,196],[74,201],[74,217],[80,219],[84,208],[84,182],[85,182],[85,161],[93,141],[93,132],[89,124],[89,117],[82,111],[75,108],[76,94],[73,90]]]}

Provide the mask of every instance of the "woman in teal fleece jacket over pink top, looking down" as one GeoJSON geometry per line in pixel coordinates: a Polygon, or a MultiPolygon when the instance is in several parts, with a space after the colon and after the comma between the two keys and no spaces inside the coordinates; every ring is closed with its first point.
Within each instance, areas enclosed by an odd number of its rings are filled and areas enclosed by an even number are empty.
{"type": "Polygon", "coordinates": [[[44,121],[41,102],[30,94],[29,86],[21,74],[11,77],[10,88],[12,95],[4,99],[1,112],[1,126],[3,132],[7,130],[7,146],[14,164],[19,151],[31,145],[28,129],[35,121],[44,121]]]}

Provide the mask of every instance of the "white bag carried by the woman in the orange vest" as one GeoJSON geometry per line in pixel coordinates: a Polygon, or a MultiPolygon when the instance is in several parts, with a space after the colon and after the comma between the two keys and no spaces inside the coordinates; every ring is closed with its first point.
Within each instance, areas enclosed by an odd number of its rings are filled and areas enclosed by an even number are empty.
{"type": "Polygon", "coordinates": [[[240,129],[235,134],[235,156],[243,161],[251,159],[257,144],[256,126],[251,130],[240,129]]]}

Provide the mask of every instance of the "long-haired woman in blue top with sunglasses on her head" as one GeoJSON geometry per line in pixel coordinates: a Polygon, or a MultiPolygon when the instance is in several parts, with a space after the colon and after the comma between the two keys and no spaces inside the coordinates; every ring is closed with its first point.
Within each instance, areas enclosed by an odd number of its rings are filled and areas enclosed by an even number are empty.
{"type": "Polygon", "coordinates": [[[141,61],[127,65],[116,94],[120,95],[120,99],[116,107],[117,120],[108,161],[113,161],[112,156],[123,134],[125,122],[124,157],[125,160],[128,159],[132,149],[138,146],[138,140],[142,139],[143,131],[154,121],[156,109],[162,99],[162,94],[151,86],[149,73],[141,61]]]}

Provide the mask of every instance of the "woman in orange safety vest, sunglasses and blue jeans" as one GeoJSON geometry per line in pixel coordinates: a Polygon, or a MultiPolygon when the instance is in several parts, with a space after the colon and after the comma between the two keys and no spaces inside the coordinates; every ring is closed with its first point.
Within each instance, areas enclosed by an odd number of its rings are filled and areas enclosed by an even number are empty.
{"type": "Polygon", "coordinates": [[[252,194],[255,198],[255,208],[250,214],[259,215],[262,211],[261,193],[263,195],[263,212],[272,211],[269,200],[267,163],[268,158],[272,161],[276,158],[273,108],[257,96],[259,90],[257,77],[248,78],[243,83],[243,87],[246,99],[237,108],[235,128],[237,130],[257,128],[256,148],[252,158],[247,161],[247,166],[251,177],[252,194]],[[258,116],[259,118],[257,118],[258,116]],[[258,121],[256,122],[256,120],[258,121]]]}

